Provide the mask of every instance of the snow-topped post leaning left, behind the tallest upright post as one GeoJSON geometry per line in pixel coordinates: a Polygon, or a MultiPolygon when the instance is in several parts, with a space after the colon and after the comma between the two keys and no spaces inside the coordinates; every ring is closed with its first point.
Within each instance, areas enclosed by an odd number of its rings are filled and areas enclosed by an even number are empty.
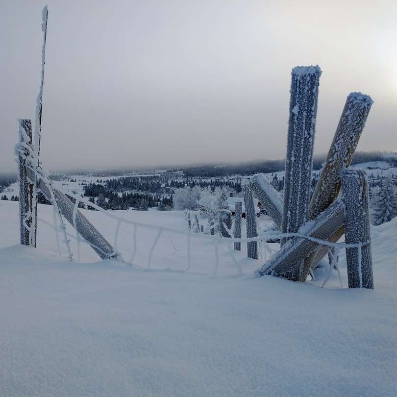
{"type": "Polygon", "coordinates": [[[249,185],[274,224],[280,229],[283,213],[283,199],[280,194],[273,188],[264,174],[253,175],[249,185]]]}

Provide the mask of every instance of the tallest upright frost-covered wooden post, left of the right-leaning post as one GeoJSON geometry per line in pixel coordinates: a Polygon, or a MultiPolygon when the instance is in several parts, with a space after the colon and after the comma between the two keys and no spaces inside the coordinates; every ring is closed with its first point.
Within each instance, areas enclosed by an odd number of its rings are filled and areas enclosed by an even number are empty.
{"type": "Polygon", "coordinates": [[[307,218],[321,69],[318,65],[297,66],[291,75],[283,233],[297,232],[307,218]]]}

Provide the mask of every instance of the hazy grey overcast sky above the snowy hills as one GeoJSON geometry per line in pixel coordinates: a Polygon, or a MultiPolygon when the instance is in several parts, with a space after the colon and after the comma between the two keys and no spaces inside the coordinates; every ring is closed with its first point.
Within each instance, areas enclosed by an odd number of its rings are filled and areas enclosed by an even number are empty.
{"type": "MultiPolygon", "coordinates": [[[[34,122],[36,0],[0,0],[0,172],[34,122]]],[[[397,1],[49,1],[41,160],[110,168],[283,158],[291,68],[323,70],[315,152],[347,94],[374,104],[358,150],[397,150],[397,1]]]]}

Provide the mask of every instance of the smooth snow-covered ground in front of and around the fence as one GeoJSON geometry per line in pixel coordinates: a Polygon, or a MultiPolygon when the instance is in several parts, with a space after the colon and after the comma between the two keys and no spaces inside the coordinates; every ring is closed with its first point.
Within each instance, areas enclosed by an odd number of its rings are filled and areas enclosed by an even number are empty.
{"type": "MultiPolygon", "coordinates": [[[[19,246],[17,214],[0,201],[0,396],[396,396],[397,219],[372,227],[372,291],[346,288],[344,255],[344,289],[336,272],[319,287],[326,268],[306,284],[253,278],[260,262],[244,252],[238,275],[227,247],[215,276],[200,239],[191,271],[172,271],[186,268],[186,240],[167,234],[152,271],[88,247],[71,263],[43,223],[38,249],[19,246]]],[[[115,222],[85,214],[113,243],[115,222]]],[[[186,229],[177,211],[119,215],[186,229]]],[[[51,206],[39,217],[52,223],[51,206]]],[[[132,229],[119,233],[125,259],[132,229]]],[[[146,266],[156,231],[140,229],[134,263],[146,266]]]]}

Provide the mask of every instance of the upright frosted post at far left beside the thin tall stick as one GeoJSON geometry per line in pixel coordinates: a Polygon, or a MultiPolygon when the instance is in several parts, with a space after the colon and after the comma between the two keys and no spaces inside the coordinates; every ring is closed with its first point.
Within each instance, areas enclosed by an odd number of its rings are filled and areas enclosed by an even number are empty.
{"type": "MultiPolygon", "coordinates": [[[[19,143],[26,145],[33,151],[32,146],[32,122],[28,119],[19,119],[19,143]]],[[[28,155],[28,149],[25,154],[28,155]]],[[[36,223],[32,225],[32,197],[33,183],[28,180],[25,167],[25,158],[18,156],[19,161],[19,225],[20,225],[20,242],[24,246],[32,245],[36,247],[35,233],[30,239],[30,233],[36,229],[36,223]]],[[[37,217],[34,217],[36,220],[37,217]]]]}

